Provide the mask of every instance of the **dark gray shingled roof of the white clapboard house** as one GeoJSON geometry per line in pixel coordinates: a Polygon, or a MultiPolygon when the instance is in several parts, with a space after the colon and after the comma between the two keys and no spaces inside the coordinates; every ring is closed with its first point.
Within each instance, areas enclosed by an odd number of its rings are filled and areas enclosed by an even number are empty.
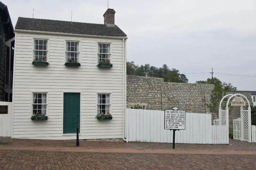
{"type": "Polygon", "coordinates": [[[122,36],[126,34],[114,25],[109,27],[105,24],[91,24],[83,22],[59,21],[51,19],[35,19],[19,17],[15,29],[46,31],[58,33],[72,33],[85,35],[122,36]]]}

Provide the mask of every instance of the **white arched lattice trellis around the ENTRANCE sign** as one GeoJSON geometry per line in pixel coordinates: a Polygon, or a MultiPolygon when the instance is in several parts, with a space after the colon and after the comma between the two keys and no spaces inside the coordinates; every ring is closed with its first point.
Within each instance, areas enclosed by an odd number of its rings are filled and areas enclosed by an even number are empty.
{"type": "Polygon", "coordinates": [[[228,94],[224,97],[222,97],[221,101],[220,101],[220,105],[219,105],[219,120],[218,120],[218,125],[222,125],[222,126],[228,126],[228,103],[230,101],[230,99],[232,97],[235,96],[241,96],[244,97],[247,100],[248,103],[248,110],[243,110],[243,107],[241,106],[240,109],[240,115],[241,115],[241,140],[246,140],[249,142],[252,142],[252,129],[251,129],[251,107],[250,107],[250,102],[247,99],[247,97],[245,97],[244,95],[240,94],[240,93],[236,93],[236,94],[228,94]],[[227,104],[226,104],[226,108],[225,110],[221,109],[221,103],[223,102],[224,98],[229,97],[227,104]]]}

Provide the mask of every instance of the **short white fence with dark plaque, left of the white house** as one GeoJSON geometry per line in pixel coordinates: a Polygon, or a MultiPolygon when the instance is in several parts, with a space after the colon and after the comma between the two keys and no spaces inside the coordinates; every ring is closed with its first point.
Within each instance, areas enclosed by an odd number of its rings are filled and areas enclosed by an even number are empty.
{"type": "Polygon", "coordinates": [[[0,114],[0,136],[12,136],[12,102],[0,102],[0,105],[8,105],[8,114],[0,114]]]}

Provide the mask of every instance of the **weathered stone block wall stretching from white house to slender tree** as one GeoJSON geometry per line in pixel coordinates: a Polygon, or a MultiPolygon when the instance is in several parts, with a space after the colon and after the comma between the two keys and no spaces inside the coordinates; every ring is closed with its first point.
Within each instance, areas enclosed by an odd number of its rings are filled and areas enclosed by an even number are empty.
{"type": "Polygon", "coordinates": [[[180,110],[209,113],[212,84],[164,82],[162,78],[127,75],[127,107],[135,104],[148,110],[178,106],[180,110]]]}

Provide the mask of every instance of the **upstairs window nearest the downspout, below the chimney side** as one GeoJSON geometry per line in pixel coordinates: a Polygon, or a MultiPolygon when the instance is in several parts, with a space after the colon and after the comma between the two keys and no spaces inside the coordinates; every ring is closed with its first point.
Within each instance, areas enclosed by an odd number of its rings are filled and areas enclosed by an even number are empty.
{"type": "Polygon", "coordinates": [[[110,44],[109,43],[98,43],[98,62],[109,62],[110,61],[110,44]]]}

